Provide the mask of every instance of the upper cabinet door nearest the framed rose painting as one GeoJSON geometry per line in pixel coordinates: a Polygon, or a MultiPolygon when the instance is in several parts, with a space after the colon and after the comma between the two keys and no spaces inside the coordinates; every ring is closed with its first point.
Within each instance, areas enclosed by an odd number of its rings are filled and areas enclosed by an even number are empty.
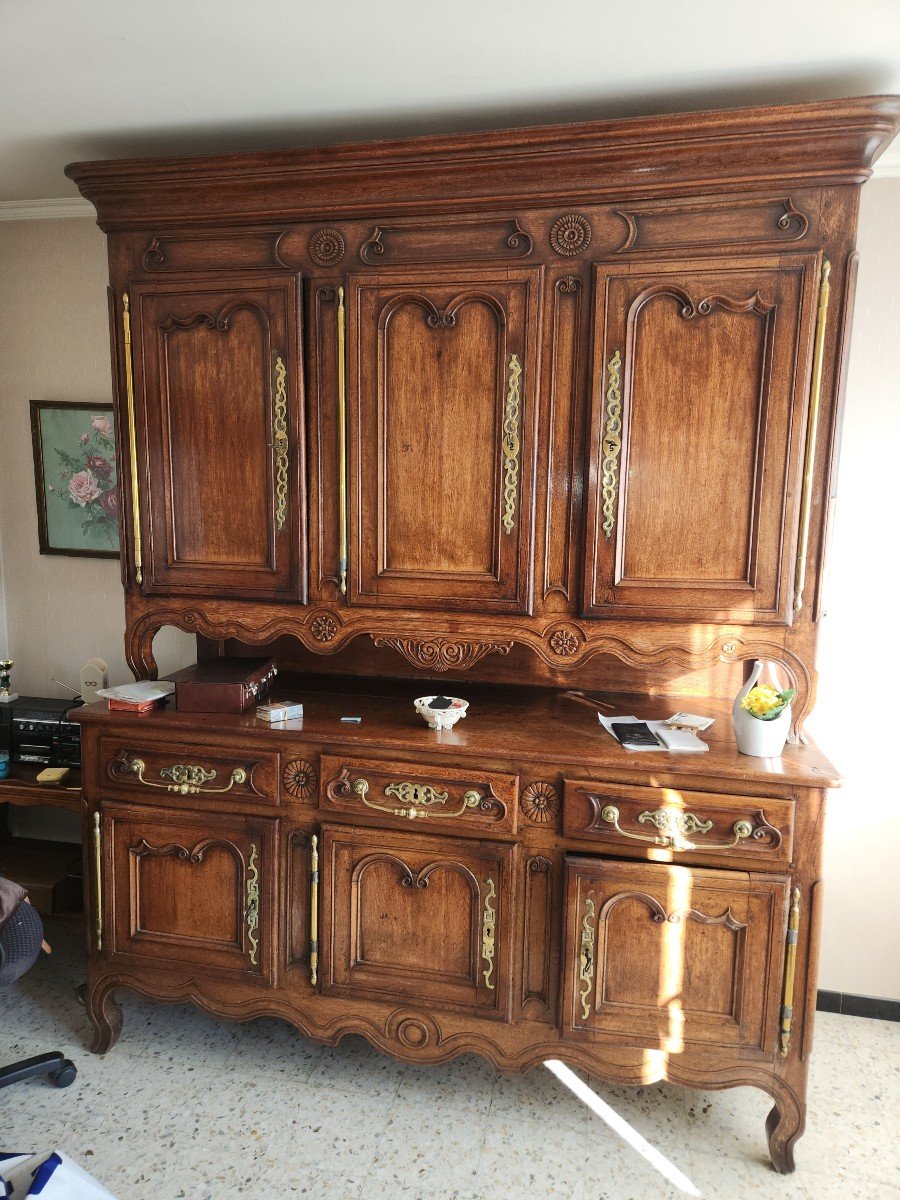
{"type": "Polygon", "coordinates": [[[144,590],[301,599],[294,275],[132,289],[144,590]]]}

